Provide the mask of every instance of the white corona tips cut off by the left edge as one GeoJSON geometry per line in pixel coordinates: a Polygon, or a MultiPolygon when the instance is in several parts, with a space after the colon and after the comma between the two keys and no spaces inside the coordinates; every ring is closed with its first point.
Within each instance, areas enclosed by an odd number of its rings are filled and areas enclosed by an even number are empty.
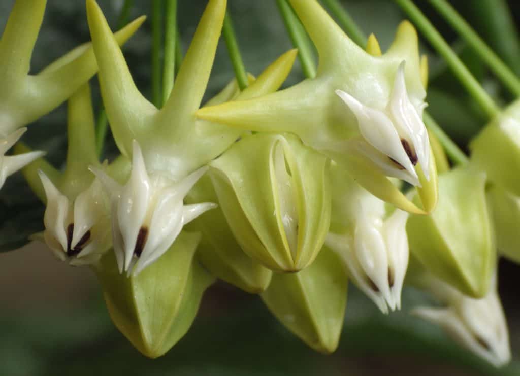
{"type": "Polygon", "coordinates": [[[20,128],[6,137],[0,138],[0,189],[7,177],[45,154],[44,152],[29,152],[19,155],[5,155],[11,149],[11,146],[22,137],[25,131],[27,131],[27,128],[20,128]]]}

